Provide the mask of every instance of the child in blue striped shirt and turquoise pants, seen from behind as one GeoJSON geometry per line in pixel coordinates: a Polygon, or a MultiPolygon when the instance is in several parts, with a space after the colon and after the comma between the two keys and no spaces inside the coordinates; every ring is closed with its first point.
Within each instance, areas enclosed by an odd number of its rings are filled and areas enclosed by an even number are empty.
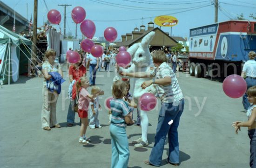
{"type": "Polygon", "coordinates": [[[112,117],[109,127],[112,146],[111,168],[128,167],[130,151],[125,128],[126,124],[133,124],[134,121],[131,118],[128,103],[123,101],[123,96],[126,93],[126,84],[123,81],[113,83],[114,99],[110,101],[112,117]]]}

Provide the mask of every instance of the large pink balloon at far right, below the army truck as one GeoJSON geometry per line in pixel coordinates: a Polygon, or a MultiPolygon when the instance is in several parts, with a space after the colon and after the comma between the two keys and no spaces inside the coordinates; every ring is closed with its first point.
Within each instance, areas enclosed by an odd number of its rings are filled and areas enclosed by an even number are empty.
{"type": "Polygon", "coordinates": [[[240,75],[231,74],[223,81],[222,88],[224,93],[229,97],[239,98],[245,94],[247,90],[247,84],[240,75]]]}

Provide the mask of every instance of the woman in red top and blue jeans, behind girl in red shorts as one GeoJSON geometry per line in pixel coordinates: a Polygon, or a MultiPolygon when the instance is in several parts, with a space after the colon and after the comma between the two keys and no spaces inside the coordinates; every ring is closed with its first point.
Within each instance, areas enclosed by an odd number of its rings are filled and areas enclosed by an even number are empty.
{"type": "MultiPolygon", "coordinates": [[[[73,97],[72,96],[72,88],[75,87],[76,81],[78,81],[81,77],[86,76],[86,67],[84,67],[84,65],[83,65],[82,54],[80,53],[80,55],[81,55],[81,59],[77,63],[71,65],[68,70],[69,81],[71,82],[71,84],[70,84],[71,86],[69,87],[69,89],[71,89],[69,91],[71,93],[70,104],[69,104],[68,111],[67,111],[67,126],[68,127],[72,127],[74,125],[74,117],[75,117],[74,102],[76,100],[72,98],[73,97]]],[[[75,90],[75,88],[74,88],[74,90],[75,90]]]]}

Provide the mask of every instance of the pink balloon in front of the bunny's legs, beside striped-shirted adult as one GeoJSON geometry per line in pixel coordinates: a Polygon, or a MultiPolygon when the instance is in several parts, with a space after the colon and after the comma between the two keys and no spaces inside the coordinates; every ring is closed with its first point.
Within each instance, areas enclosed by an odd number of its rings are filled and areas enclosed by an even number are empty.
{"type": "Polygon", "coordinates": [[[145,93],[142,94],[139,99],[139,105],[141,110],[150,111],[155,108],[157,100],[154,94],[145,93]]]}

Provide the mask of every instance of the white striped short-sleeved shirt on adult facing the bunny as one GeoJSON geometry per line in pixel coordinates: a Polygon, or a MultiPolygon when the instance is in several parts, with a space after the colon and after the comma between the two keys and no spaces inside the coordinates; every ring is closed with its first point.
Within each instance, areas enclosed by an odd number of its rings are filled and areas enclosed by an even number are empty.
{"type": "Polygon", "coordinates": [[[178,84],[176,75],[166,62],[163,62],[158,68],[150,70],[149,73],[155,76],[155,79],[162,79],[167,76],[171,77],[172,82],[169,85],[155,84],[162,103],[177,102],[183,99],[182,90],[178,84]]]}

